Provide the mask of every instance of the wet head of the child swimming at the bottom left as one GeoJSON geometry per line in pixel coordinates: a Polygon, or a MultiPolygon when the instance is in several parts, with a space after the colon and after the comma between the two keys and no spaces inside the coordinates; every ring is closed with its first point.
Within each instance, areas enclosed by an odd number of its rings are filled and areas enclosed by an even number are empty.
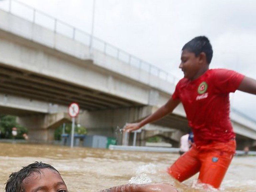
{"type": "Polygon", "coordinates": [[[35,162],[9,176],[5,192],[67,192],[60,173],[51,165],[35,162]],[[33,182],[31,182],[33,181],[33,182]]]}

